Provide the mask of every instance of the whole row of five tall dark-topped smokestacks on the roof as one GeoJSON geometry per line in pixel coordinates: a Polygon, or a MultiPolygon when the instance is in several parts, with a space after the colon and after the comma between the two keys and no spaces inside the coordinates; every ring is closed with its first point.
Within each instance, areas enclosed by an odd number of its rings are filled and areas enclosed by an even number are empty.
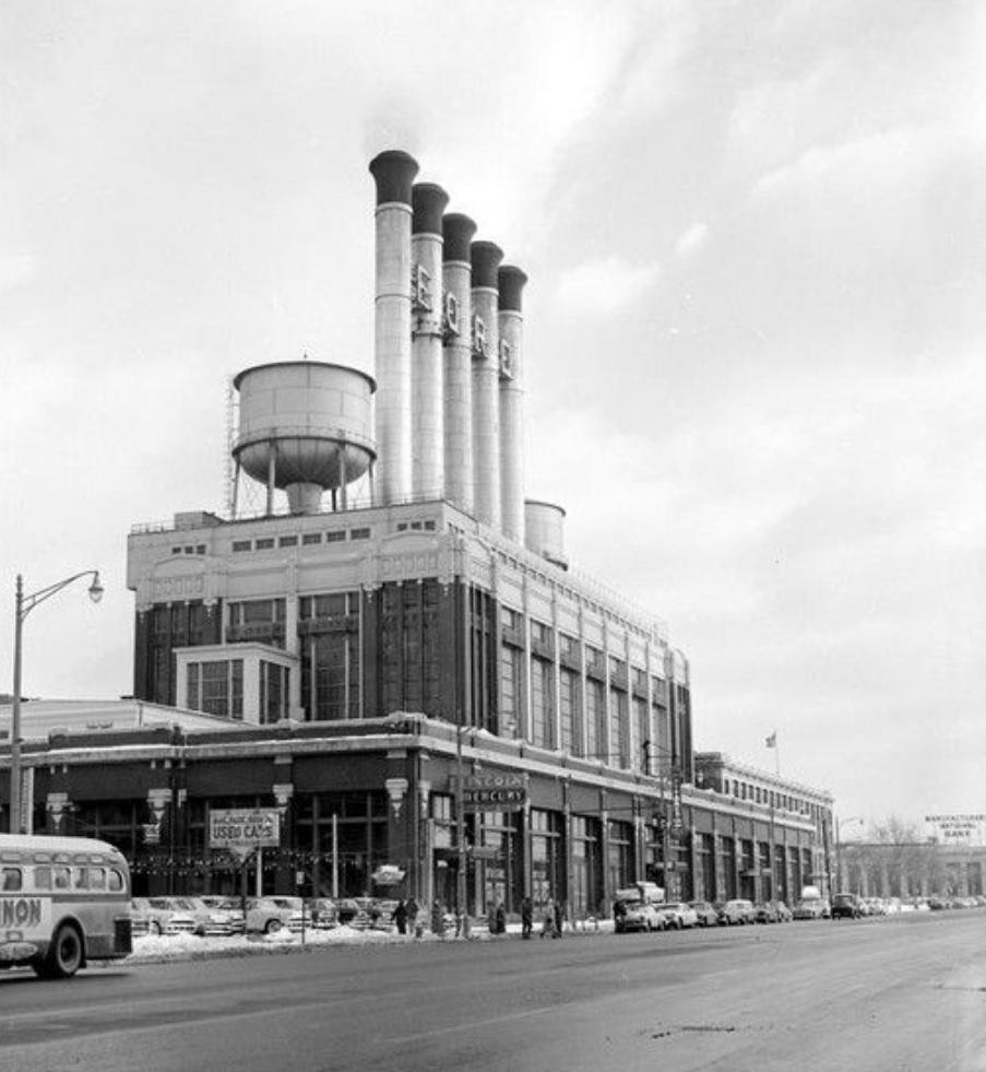
{"type": "Polygon", "coordinates": [[[388,151],[377,182],[375,496],[447,498],[524,542],[523,314],[527,281],[449,197],[388,151]]]}

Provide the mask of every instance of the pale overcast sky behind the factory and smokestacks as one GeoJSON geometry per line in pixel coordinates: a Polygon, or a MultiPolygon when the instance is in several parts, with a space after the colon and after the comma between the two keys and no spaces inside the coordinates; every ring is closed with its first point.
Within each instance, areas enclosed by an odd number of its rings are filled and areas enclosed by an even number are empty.
{"type": "Polygon", "coordinates": [[[401,148],[531,276],[528,493],[667,622],[698,747],[986,810],[984,43],[975,0],[7,0],[4,667],[15,574],[99,567],[24,691],[131,691],[126,537],[222,507],[227,377],[372,372],[401,148]]]}

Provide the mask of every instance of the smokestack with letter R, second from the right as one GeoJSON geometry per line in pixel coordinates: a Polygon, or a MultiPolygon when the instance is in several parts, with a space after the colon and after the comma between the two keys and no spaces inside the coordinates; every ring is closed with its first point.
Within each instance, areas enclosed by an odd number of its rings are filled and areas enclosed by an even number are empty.
{"type": "Polygon", "coordinates": [[[473,472],[476,517],[500,527],[500,344],[497,269],[503,250],[474,242],[473,262],[473,472]]]}

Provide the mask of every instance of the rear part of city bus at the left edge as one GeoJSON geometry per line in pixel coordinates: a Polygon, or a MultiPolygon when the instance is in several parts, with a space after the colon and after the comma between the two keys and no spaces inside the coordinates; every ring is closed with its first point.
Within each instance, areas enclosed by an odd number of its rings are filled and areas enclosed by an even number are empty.
{"type": "Polygon", "coordinates": [[[0,834],[0,968],[68,979],[131,952],[130,869],[87,837],[0,834]]]}

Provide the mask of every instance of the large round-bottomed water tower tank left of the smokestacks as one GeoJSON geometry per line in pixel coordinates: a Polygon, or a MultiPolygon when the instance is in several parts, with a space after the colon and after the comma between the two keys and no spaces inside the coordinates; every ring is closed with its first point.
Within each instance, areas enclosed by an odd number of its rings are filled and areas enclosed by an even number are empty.
{"type": "Polygon", "coordinates": [[[287,492],[294,514],[316,514],[376,460],[365,373],[318,361],[257,365],[234,380],[239,433],[233,456],[256,481],[287,492]]]}

